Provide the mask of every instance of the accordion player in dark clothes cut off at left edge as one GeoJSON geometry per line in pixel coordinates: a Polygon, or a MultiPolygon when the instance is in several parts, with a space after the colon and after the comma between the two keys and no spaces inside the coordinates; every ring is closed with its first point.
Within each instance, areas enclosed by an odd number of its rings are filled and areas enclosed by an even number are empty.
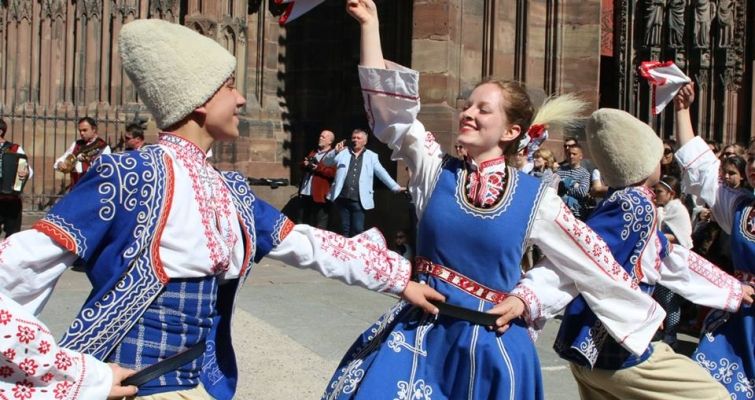
{"type": "MultiPolygon", "coordinates": [[[[0,166],[2,166],[3,156],[9,153],[25,154],[21,145],[5,140],[5,132],[8,130],[8,124],[0,119],[0,166]]],[[[16,176],[3,176],[0,169],[0,181],[5,179],[26,180],[31,178],[31,169],[21,167],[16,171],[16,176]]],[[[21,197],[19,193],[7,192],[0,189],[0,231],[5,232],[8,237],[21,230],[21,197]]]]}

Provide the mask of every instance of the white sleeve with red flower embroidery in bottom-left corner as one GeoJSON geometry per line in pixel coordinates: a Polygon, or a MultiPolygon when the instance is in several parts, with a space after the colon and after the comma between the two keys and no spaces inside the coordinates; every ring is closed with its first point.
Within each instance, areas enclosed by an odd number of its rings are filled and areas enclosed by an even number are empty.
{"type": "Polygon", "coordinates": [[[47,327],[0,294],[0,398],[105,399],[110,367],[60,348],[47,327]]]}

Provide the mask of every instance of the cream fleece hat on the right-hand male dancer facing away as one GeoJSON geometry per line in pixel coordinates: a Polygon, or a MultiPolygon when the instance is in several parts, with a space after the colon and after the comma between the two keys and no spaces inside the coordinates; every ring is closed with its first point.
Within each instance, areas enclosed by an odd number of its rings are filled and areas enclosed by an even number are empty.
{"type": "Polygon", "coordinates": [[[663,158],[663,142],[626,111],[601,108],[587,120],[587,147],[600,176],[620,188],[649,177],[663,158]]]}

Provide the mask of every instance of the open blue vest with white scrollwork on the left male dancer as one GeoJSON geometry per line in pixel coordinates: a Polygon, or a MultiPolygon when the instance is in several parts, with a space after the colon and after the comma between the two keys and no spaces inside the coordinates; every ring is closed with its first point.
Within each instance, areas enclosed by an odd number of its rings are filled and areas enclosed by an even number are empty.
{"type": "MultiPolygon", "coordinates": [[[[293,227],[278,210],[255,198],[246,178],[222,177],[242,225],[245,258],[240,279],[218,288],[200,380],[216,399],[236,390],[231,314],[236,291],[254,262],[293,227]]],[[[158,145],[101,155],[73,190],[34,225],[87,267],[92,292],[61,345],[106,360],[169,285],[159,241],[173,198],[172,161],[158,145]]]]}

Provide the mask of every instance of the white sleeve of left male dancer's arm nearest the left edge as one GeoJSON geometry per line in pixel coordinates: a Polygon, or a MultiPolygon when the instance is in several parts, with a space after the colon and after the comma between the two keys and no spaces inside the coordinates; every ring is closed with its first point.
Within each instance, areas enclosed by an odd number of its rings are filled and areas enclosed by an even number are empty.
{"type": "Polygon", "coordinates": [[[39,231],[16,233],[0,243],[0,291],[38,314],[55,282],[74,261],[75,254],[39,231]]]}

